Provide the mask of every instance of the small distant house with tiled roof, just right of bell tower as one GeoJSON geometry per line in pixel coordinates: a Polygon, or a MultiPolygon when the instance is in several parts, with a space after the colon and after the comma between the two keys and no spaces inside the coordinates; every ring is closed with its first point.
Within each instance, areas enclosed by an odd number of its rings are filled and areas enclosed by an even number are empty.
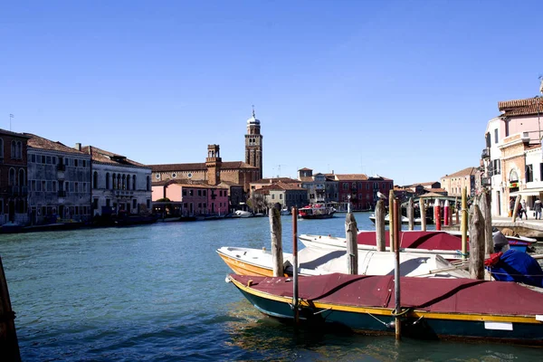
{"type": "Polygon", "coordinates": [[[308,191],[295,183],[274,182],[254,191],[264,196],[266,205],[278,205],[282,210],[292,207],[303,207],[310,204],[308,191]]]}

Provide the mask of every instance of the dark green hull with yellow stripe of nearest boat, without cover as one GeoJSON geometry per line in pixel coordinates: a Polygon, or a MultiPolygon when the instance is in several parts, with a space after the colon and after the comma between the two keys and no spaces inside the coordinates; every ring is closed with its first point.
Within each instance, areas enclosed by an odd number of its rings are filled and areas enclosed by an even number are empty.
{"type": "MultiPolygon", "coordinates": [[[[243,296],[264,315],[293,322],[292,298],[255,291],[250,285],[233,281],[243,296]]],[[[249,281],[248,284],[251,284],[249,281]]],[[[255,281],[258,282],[258,281],[255,281]]],[[[394,310],[300,301],[300,322],[311,328],[321,325],[342,327],[358,333],[394,334],[394,310]]],[[[533,317],[465,313],[439,313],[413,310],[401,320],[402,335],[421,339],[481,339],[484,341],[543,345],[543,323],[533,317]]]]}

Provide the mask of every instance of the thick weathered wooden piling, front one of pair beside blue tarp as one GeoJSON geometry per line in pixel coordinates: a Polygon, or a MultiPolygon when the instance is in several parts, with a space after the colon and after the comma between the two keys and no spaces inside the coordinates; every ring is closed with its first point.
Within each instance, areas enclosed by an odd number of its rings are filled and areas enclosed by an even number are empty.
{"type": "Polygon", "coordinates": [[[470,278],[484,280],[484,219],[479,205],[470,213],[470,278]]]}

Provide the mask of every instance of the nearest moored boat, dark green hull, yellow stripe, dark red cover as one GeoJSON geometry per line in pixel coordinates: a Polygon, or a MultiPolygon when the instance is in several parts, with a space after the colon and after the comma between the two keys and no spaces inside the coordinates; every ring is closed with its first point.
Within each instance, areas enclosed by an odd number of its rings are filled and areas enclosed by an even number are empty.
{"type": "Polygon", "coordinates": [[[229,274],[227,282],[264,315],[311,329],[343,327],[394,335],[397,315],[408,338],[460,338],[543,345],[543,294],[515,282],[401,277],[395,310],[394,275],[291,277],[229,274]]]}

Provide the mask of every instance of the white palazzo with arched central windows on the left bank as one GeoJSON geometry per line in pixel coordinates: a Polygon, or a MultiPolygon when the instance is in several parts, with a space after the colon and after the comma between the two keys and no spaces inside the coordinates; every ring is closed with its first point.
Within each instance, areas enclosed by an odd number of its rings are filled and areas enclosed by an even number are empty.
{"type": "Polygon", "coordinates": [[[151,168],[94,146],[78,150],[91,157],[93,215],[147,214],[151,211],[151,168]]]}

